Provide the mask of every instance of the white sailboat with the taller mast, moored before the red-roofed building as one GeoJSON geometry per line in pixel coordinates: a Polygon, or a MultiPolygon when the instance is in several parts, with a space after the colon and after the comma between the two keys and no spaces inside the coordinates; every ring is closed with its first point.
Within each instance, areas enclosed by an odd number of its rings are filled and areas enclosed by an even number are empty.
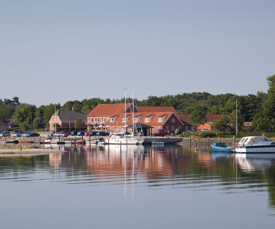
{"type": "Polygon", "coordinates": [[[111,135],[110,138],[107,138],[105,140],[106,143],[108,144],[133,144],[136,145],[138,143],[137,138],[129,138],[126,137],[126,88],[124,88],[124,93],[125,93],[125,125],[124,125],[124,135],[119,134],[119,133],[114,133],[111,135]]]}

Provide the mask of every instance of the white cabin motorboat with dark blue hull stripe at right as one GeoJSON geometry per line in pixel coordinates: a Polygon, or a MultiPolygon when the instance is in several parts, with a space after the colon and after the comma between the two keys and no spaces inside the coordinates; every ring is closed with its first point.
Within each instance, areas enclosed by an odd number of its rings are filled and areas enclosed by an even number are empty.
{"type": "Polygon", "coordinates": [[[235,147],[236,153],[275,153],[275,142],[268,137],[243,137],[235,147]]]}

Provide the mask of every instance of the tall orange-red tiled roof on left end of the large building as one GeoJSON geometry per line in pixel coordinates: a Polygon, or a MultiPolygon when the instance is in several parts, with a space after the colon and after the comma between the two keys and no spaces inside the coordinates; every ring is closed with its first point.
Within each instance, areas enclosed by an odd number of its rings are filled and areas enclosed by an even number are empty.
{"type": "MultiPolygon", "coordinates": [[[[132,103],[126,103],[126,109],[131,105],[132,103]]],[[[124,111],[125,111],[125,103],[98,104],[87,115],[87,117],[114,116],[116,114],[123,113],[124,111]]]]}

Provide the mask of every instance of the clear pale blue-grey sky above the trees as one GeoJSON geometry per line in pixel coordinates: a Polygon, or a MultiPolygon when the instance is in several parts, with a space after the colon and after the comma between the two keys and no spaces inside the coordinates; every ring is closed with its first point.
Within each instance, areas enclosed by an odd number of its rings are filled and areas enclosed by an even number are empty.
{"type": "Polygon", "coordinates": [[[267,92],[275,1],[0,1],[0,98],[267,92]]]}

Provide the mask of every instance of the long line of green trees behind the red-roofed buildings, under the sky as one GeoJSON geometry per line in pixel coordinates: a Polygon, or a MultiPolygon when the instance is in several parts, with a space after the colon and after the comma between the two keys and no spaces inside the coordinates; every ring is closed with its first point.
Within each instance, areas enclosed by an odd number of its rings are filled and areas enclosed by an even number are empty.
{"type": "MultiPolygon", "coordinates": [[[[234,116],[237,100],[240,123],[253,121],[256,130],[263,130],[268,125],[275,129],[275,74],[267,77],[267,82],[269,86],[268,92],[258,91],[255,95],[236,95],[231,93],[212,95],[208,92],[192,92],[160,97],[149,96],[145,100],[135,99],[135,103],[137,106],[173,106],[179,114],[193,114],[192,116],[194,117],[199,113],[232,114],[234,116]]],[[[131,101],[131,98],[129,98],[129,101],[131,101]]],[[[57,103],[56,110],[70,110],[75,107],[75,109],[83,110],[88,114],[101,103],[124,103],[124,98],[113,100],[110,98],[105,100],[101,98],[83,99],[81,101],[70,100],[62,106],[57,103]]],[[[20,127],[25,127],[25,129],[30,126],[31,118],[33,119],[34,128],[39,129],[48,126],[53,114],[53,103],[36,107],[28,103],[20,103],[18,97],[0,99],[0,119],[7,121],[10,118],[15,118],[15,122],[20,127]]],[[[226,121],[224,117],[221,120],[222,123],[226,121]]]]}

